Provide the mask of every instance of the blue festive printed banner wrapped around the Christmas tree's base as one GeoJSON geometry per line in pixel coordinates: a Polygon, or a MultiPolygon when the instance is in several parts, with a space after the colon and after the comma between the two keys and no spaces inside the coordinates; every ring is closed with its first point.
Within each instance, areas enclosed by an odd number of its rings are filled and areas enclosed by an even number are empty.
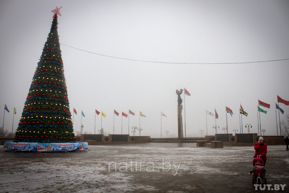
{"type": "Polygon", "coordinates": [[[10,151],[75,151],[88,149],[88,143],[16,143],[12,141],[5,141],[3,149],[10,151]]]}

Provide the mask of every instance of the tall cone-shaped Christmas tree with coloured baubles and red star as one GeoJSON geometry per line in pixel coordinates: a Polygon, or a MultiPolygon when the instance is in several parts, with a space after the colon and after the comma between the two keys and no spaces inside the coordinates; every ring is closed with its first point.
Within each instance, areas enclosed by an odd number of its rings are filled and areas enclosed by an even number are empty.
{"type": "Polygon", "coordinates": [[[34,72],[14,142],[75,142],[57,32],[59,9],[53,10],[51,30],[34,72]]]}

